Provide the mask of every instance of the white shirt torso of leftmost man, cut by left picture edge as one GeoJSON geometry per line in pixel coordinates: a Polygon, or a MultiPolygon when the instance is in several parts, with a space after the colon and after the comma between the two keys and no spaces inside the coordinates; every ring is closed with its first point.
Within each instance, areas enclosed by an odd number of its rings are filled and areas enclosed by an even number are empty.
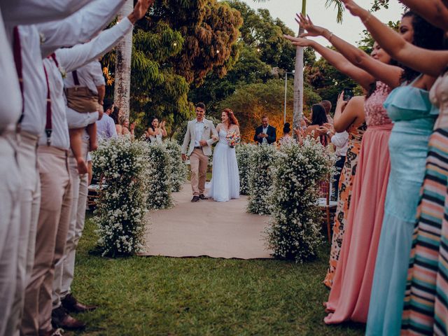
{"type": "Polygon", "coordinates": [[[0,133],[3,130],[14,130],[22,113],[22,95],[13,58],[13,51],[6,38],[0,11],[0,133]]]}

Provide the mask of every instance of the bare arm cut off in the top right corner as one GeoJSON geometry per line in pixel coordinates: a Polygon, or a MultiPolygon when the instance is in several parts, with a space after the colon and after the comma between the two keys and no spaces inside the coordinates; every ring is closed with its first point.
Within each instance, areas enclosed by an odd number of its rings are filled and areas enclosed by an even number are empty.
{"type": "Polygon", "coordinates": [[[400,0],[432,25],[448,31],[448,8],[440,0],[400,0]]]}

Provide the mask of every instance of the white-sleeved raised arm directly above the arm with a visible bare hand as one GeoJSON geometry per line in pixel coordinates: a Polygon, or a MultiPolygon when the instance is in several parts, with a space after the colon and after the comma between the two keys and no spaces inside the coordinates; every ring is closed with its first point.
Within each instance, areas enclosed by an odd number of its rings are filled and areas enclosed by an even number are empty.
{"type": "Polygon", "coordinates": [[[43,36],[42,56],[56,49],[85,43],[102,31],[123,7],[124,0],[95,0],[68,18],[37,25],[43,36]]]}

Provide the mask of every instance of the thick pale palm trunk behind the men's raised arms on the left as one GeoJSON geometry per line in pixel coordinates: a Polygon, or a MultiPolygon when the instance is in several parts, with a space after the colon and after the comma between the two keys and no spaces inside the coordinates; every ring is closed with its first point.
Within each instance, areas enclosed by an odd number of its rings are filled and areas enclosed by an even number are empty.
{"type": "MultiPolygon", "coordinates": [[[[118,14],[118,20],[130,15],[134,1],[125,1],[118,14]]],[[[132,57],[132,30],[116,46],[117,61],[115,66],[115,90],[113,101],[120,108],[120,115],[129,118],[129,102],[131,91],[131,57],[132,57]]]]}

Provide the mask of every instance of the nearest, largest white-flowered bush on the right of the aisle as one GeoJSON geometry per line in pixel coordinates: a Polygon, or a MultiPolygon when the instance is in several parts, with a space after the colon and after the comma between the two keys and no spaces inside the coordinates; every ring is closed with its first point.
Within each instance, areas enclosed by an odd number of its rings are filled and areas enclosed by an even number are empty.
{"type": "Polygon", "coordinates": [[[314,139],[281,146],[273,174],[274,190],[267,244],[276,258],[303,262],[322,244],[319,182],[332,174],[335,155],[314,139]]]}

